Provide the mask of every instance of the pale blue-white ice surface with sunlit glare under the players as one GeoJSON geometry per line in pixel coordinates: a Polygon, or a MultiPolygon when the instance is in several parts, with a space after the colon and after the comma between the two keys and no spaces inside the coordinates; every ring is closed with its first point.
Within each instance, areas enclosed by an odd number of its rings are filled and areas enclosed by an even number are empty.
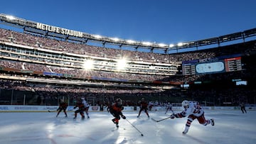
{"type": "MultiPolygon", "coordinates": [[[[175,111],[178,112],[178,111],[175,111]]],[[[124,112],[127,120],[119,121],[119,128],[112,123],[112,115],[107,112],[91,112],[90,119],[81,120],[80,115],[73,120],[73,112],[2,112],[0,113],[1,144],[63,144],[63,143],[255,143],[256,111],[205,111],[206,118],[214,118],[215,126],[203,126],[193,121],[186,135],[182,131],[186,118],[166,119],[171,113],[149,111],[150,118],[142,113],[124,112]],[[143,136],[142,136],[143,134],[143,136]]]]}

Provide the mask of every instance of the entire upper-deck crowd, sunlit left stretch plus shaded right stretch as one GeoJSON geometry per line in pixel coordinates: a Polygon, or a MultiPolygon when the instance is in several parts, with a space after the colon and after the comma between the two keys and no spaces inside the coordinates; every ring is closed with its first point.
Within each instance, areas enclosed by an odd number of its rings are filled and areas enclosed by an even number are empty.
{"type": "Polygon", "coordinates": [[[220,48],[212,48],[210,50],[200,50],[193,52],[181,52],[171,55],[164,55],[152,52],[139,52],[132,50],[122,50],[114,48],[102,48],[84,43],[69,42],[67,40],[58,40],[54,38],[47,38],[41,35],[32,35],[28,33],[18,33],[16,31],[9,31],[0,28],[0,40],[9,43],[16,43],[20,45],[28,45],[34,48],[45,48],[49,50],[56,50],[59,52],[70,52],[79,55],[91,55],[97,57],[127,57],[132,61],[144,62],[160,62],[160,63],[175,63],[185,60],[208,59],[218,57],[221,55],[230,55],[230,53],[245,53],[250,51],[251,43],[247,45],[242,43],[240,45],[228,45],[220,48]]]}

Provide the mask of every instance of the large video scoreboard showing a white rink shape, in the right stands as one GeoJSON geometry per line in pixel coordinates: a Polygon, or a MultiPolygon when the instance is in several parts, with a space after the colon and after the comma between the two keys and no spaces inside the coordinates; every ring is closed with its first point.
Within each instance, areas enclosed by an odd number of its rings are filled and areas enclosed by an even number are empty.
{"type": "Polygon", "coordinates": [[[214,62],[191,60],[182,63],[183,75],[211,74],[242,70],[241,57],[214,59],[214,62]]]}

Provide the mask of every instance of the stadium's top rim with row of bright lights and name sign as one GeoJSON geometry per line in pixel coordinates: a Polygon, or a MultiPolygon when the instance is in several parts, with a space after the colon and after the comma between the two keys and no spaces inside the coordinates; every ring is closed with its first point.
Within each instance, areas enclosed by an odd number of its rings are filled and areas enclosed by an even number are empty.
{"type": "Polygon", "coordinates": [[[186,48],[198,48],[205,45],[214,45],[220,43],[226,43],[233,40],[243,40],[245,42],[246,38],[254,37],[256,35],[256,28],[252,28],[246,31],[238,33],[230,33],[227,35],[221,35],[215,38],[207,38],[203,40],[188,41],[177,44],[164,44],[164,43],[151,43],[136,40],[125,40],[122,38],[111,38],[103,35],[95,35],[90,33],[84,33],[80,31],[73,31],[66,28],[60,28],[58,26],[50,26],[44,23],[38,23],[35,21],[29,21],[23,18],[18,18],[15,16],[6,15],[4,13],[0,14],[0,23],[6,24],[8,26],[14,26],[17,28],[23,28],[23,31],[30,33],[38,33],[46,36],[53,36],[55,38],[64,38],[66,40],[78,41],[81,43],[87,43],[89,40],[92,43],[102,43],[103,47],[105,44],[118,45],[120,49],[123,46],[133,47],[136,50],[139,48],[149,49],[151,52],[154,50],[163,50],[164,54],[169,54],[171,50],[181,50],[186,48]]]}

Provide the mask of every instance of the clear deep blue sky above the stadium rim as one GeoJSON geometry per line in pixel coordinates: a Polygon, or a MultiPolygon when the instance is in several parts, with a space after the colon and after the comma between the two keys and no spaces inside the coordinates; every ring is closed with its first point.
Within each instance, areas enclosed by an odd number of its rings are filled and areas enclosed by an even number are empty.
{"type": "Polygon", "coordinates": [[[0,13],[111,38],[176,44],[256,28],[255,5],[255,0],[8,0],[1,1],[0,13]]]}

